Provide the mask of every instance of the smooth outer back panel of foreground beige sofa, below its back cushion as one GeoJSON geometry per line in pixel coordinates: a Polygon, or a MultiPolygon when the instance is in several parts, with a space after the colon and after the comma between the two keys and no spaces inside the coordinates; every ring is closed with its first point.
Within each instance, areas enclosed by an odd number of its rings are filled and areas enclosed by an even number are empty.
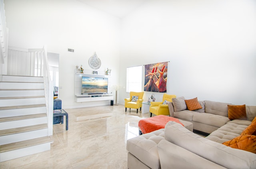
{"type": "Polygon", "coordinates": [[[224,169],[224,167],[167,140],[161,140],[157,149],[161,169],[170,169],[170,167],[173,169],[224,169]]]}

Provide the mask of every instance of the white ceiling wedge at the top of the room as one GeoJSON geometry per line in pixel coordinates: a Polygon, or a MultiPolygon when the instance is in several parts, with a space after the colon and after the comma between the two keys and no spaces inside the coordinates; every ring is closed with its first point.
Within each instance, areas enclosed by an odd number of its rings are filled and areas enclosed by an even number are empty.
{"type": "Polygon", "coordinates": [[[147,0],[78,0],[84,4],[122,18],[147,0]]]}

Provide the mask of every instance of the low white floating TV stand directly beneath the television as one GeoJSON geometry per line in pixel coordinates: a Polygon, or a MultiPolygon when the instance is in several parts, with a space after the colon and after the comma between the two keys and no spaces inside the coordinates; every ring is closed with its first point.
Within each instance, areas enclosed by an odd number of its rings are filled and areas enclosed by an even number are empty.
{"type": "Polygon", "coordinates": [[[101,100],[113,100],[114,96],[110,94],[81,94],[76,95],[76,102],[92,102],[101,100]]]}

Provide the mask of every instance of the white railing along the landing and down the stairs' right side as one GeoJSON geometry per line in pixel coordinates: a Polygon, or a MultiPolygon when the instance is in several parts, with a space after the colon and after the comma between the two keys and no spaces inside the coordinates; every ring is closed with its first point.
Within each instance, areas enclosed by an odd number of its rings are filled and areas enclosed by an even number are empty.
{"type": "Polygon", "coordinates": [[[47,47],[42,49],[22,49],[8,47],[7,75],[44,77],[46,112],[48,117],[48,134],[52,135],[53,118],[53,81],[47,58],[47,47]]]}

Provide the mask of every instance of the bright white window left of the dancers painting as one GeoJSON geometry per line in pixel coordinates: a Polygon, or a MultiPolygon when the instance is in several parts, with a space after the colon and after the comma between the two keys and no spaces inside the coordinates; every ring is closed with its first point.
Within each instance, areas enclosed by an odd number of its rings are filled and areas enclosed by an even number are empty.
{"type": "Polygon", "coordinates": [[[142,66],[128,67],[126,69],[126,92],[141,92],[142,66]]]}

